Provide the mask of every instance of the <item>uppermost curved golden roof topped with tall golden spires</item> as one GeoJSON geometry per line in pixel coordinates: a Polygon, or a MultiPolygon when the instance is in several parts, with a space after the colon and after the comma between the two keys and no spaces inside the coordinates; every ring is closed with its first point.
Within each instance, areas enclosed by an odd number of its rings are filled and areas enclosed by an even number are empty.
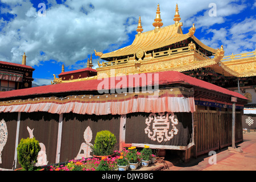
{"type": "MultiPolygon", "coordinates": [[[[199,39],[193,36],[195,32],[195,24],[189,29],[188,34],[183,34],[181,29],[182,22],[179,22],[180,16],[177,10],[176,5],[176,14],[175,14],[175,24],[171,24],[170,26],[160,27],[162,26],[162,19],[160,19],[160,10],[159,5],[156,11],[156,19],[153,25],[157,28],[156,30],[151,30],[147,32],[141,32],[135,35],[135,39],[130,46],[123,47],[121,49],[117,49],[116,51],[104,53],[100,56],[101,59],[106,59],[110,57],[118,57],[118,56],[128,56],[134,55],[138,49],[142,49],[143,51],[152,51],[154,49],[170,46],[171,44],[180,42],[182,40],[192,38],[199,46],[203,47],[209,52],[216,53],[216,49],[205,46],[199,39]]],[[[141,27],[141,19],[139,19],[139,27],[141,27]]]]}

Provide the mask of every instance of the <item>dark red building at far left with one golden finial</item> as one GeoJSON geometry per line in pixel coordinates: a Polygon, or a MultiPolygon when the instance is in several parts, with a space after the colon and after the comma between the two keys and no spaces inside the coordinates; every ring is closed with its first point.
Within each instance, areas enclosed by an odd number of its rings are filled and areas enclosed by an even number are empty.
{"type": "Polygon", "coordinates": [[[26,65],[27,56],[22,56],[22,64],[0,61],[0,91],[31,88],[34,68],[26,65]]]}

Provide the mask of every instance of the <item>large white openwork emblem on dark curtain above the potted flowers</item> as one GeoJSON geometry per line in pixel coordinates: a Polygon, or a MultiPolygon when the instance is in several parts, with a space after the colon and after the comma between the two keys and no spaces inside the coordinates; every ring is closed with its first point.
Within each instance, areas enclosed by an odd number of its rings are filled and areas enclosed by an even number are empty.
{"type": "Polygon", "coordinates": [[[179,131],[175,125],[178,124],[178,120],[174,119],[174,113],[167,113],[166,115],[164,113],[158,113],[158,116],[156,116],[155,113],[151,113],[149,117],[146,119],[146,129],[145,133],[148,134],[148,138],[155,141],[157,140],[159,143],[166,142],[174,137],[174,135],[177,134],[179,131]],[[171,125],[172,130],[170,129],[170,121],[171,119],[171,125]],[[150,130],[150,125],[152,122],[152,131],[150,130]]]}

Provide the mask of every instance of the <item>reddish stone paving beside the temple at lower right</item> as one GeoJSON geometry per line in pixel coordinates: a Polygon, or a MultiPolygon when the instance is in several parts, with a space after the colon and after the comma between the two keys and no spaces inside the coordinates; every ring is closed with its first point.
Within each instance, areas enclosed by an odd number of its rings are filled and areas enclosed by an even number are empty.
{"type": "MultiPolygon", "coordinates": [[[[164,168],[163,164],[156,164],[155,169],[163,171],[256,171],[256,131],[243,134],[243,142],[238,143],[237,147],[241,147],[243,152],[229,151],[228,147],[217,151],[216,164],[210,164],[213,162],[212,156],[206,154],[197,159],[192,158],[188,163],[175,164],[170,161],[168,168],[164,168]]],[[[154,167],[154,164],[151,167],[154,167]]],[[[148,168],[148,170],[154,169],[148,168]]]]}

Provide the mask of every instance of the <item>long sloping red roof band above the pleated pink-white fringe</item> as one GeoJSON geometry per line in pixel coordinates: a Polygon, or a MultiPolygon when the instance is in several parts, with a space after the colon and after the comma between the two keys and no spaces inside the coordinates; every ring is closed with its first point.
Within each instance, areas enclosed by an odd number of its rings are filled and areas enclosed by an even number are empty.
{"type": "MultiPolygon", "coordinates": [[[[134,76],[140,76],[141,74],[145,74],[146,78],[151,78],[152,85],[167,85],[174,84],[177,82],[185,83],[192,86],[197,86],[199,88],[212,90],[214,92],[227,94],[232,97],[241,98],[243,100],[247,100],[245,96],[240,93],[230,91],[228,89],[222,88],[217,85],[210,84],[209,82],[199,80],[197,78],[193,78],[191,76],[184,75],[183,73],[176,71],[166,71],[166,72],[157,72],[157,73],[140,73],[135,74],[134,76]],[[150,75],[151,74],[151,75],[150,75]],[[155,80],[156,79],[156,80],[155,80]],[[154,84],[155,83],[155,84],[154,84]]],[[[143,76],[143,75],[141,75],[143,76]]],[[[108,82],[109,89],[115,89],[118,82],[123,81],[123,77],[130,78],[127,76],[119,76],[119,77],[109,77],[106,78],[108,82]],[[122,79],[120,79],[122,77],[122,79]],[[112,82],[113,81],[113,82],[112,82]],[[114,86],[114,88],[113,88],[114,86]]],[[[0,92],[1,98],[14,98],[14,97],[22,97],[22,96],[39,96],[42,94],[56,94],[56,93],[70,93],[70,92],[81,92],[81,91],[96,91],[98,90],[98,85],[102,84],[101,82],[104,80],[86,80],[86,81],[77,81],[77,82],[67,82],[64,84],[55,84],[55,85],[46,85],[46,86],[38,86],[34,88],[20,89],[20,90],[11,90],[7,92],[0,92]]],[[[141,81],[134,82],[132,86],[129,85],[130,82],[126,81],[126,85],[122,85],[122,88],[129,87],[138,87],[138,86],[147,86],[148,80],[146,84],[141,81]]]]}

